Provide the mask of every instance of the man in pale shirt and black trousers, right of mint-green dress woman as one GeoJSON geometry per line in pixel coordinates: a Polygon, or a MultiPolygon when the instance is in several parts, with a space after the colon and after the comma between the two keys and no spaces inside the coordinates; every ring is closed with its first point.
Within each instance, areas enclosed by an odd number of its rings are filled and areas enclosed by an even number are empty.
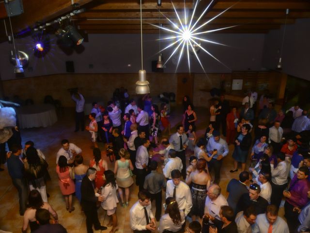
{"type": "Polygon", "coordinates": [[[142,139],[142,146],[137,150],[136,155],[136,168],[137,178],[139,184],[139,191],[143,190],[143,184],[147,175],[147,165],[149,164],[149,151],[147,150],[150,146],[150,140],[146,138],[142,139]]]}

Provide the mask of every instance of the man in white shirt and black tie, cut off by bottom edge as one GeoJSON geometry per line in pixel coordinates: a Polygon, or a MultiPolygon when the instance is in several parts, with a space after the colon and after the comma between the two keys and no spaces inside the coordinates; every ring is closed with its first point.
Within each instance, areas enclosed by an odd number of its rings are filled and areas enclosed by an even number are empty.
{"type": "Polygon", "coordinates": [[[134,233],[151,233],[156,229],[151,196],[143,190],[138,193],[138,199],[129,212],[130,227],[134,233]]]}

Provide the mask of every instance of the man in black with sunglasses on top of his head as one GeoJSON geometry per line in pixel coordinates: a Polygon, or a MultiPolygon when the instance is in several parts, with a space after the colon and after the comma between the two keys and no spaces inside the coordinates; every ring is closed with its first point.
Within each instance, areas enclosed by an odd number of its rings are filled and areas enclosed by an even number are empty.
{"type": "Polygon", "coordinates": [[[248,193],[244,193],[237,204],[236,213],[245,211],[250,205],[256,209],[256,213],[264,214],[268,205],[268,201],[260,196],[261,187],[257,183],[250,185],[248,193]]]}

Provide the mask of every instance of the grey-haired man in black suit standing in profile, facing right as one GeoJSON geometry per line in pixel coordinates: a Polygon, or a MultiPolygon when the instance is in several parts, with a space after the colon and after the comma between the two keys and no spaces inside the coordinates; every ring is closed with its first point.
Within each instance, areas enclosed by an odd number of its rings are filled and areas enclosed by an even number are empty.
{"type": "Polygon", "coordinates": [[[93,183],[93,180],[96,177],[96,172],[97,171],[95,168],[88,168],[86,176],[83,178],[81,184],[81,206],[86,215],[87,233],[93,233],[93,226],[95,230],[107,230],[107,227],[100,225],[98,219],[96,202],[103,201],[104,198],[102,196],[95,196],[95,185],[93,183]]]}

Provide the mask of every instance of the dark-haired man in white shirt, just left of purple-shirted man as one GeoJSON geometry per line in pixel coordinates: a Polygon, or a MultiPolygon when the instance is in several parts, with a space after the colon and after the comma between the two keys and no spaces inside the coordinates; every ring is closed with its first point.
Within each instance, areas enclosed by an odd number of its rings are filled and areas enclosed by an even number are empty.
{"type": "Polygon", "coordinates": [[[277,154],[278,165],[274,168],[274,162],[270,161],[271,166],[271,199],[270,203],[280,206],[283,191],[287,186],[288,169],[286,169],[285,154],[277,154]]]}

